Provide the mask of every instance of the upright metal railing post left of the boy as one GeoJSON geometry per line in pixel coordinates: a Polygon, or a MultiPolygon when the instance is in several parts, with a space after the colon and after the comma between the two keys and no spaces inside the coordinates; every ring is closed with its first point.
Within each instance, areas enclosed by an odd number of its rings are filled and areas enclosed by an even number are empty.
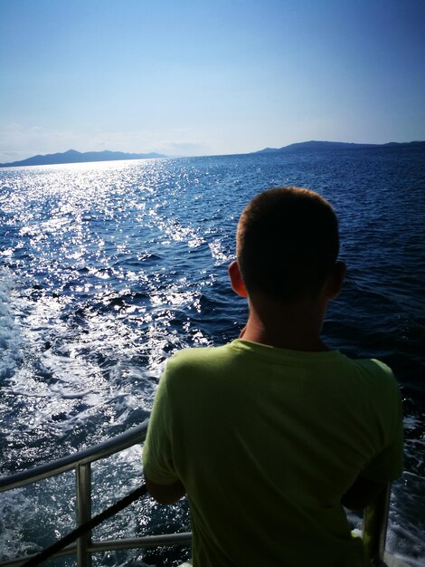
{"type": "MultiPolygon", "coordinates": [[[[78,465],[75,469],[77,483],[77,526],[91,518],[91,467],[90,463],[78,465]]],[[[77,540],[78,567],[91,567],[91,533],[85,533],[77,540]]]]}

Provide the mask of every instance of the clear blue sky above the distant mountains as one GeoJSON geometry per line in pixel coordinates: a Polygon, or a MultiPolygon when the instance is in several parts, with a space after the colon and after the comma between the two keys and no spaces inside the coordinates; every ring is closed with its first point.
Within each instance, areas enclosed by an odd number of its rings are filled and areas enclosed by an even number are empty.
{"type": "Polygon", "coordinates": [[[424,0],[0,0],[0,162],[425,139],[424,0]]]}

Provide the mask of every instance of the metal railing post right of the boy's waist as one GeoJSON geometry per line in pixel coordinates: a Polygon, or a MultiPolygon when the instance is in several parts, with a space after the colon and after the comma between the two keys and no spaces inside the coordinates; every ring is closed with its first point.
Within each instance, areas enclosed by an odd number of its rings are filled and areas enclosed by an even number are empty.
{"type": "Polygon", "coordinates": [[[364,508],[362,538],[373,567],[385,567],[383,553],[390,510],[391,484],[382,490],[373,504],[364,508]]]}

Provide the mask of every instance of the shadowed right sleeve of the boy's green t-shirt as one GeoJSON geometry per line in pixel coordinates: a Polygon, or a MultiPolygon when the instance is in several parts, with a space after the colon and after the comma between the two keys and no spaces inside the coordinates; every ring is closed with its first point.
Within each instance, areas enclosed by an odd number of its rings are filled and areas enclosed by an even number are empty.
{"type": "Polygon", "coordinates": [[[392,376],[392,399],[388,400],[392,419],[387,423],[388,442],[382,451],[364,468],[361,476],[379,483],[399,478],[403,469],[403,422],[400,389],[392,376]]]}

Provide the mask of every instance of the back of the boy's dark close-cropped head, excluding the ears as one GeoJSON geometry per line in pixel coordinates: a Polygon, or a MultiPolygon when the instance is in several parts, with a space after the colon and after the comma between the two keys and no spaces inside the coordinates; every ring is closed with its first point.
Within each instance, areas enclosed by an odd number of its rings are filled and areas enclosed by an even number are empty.
{"type": "Polygon", "coordinates": [[[339,252],[329,203],[299,187],[254,197],[241,214],[236,255],[247,292],[279,303],[315,298],[339,252]]]}

